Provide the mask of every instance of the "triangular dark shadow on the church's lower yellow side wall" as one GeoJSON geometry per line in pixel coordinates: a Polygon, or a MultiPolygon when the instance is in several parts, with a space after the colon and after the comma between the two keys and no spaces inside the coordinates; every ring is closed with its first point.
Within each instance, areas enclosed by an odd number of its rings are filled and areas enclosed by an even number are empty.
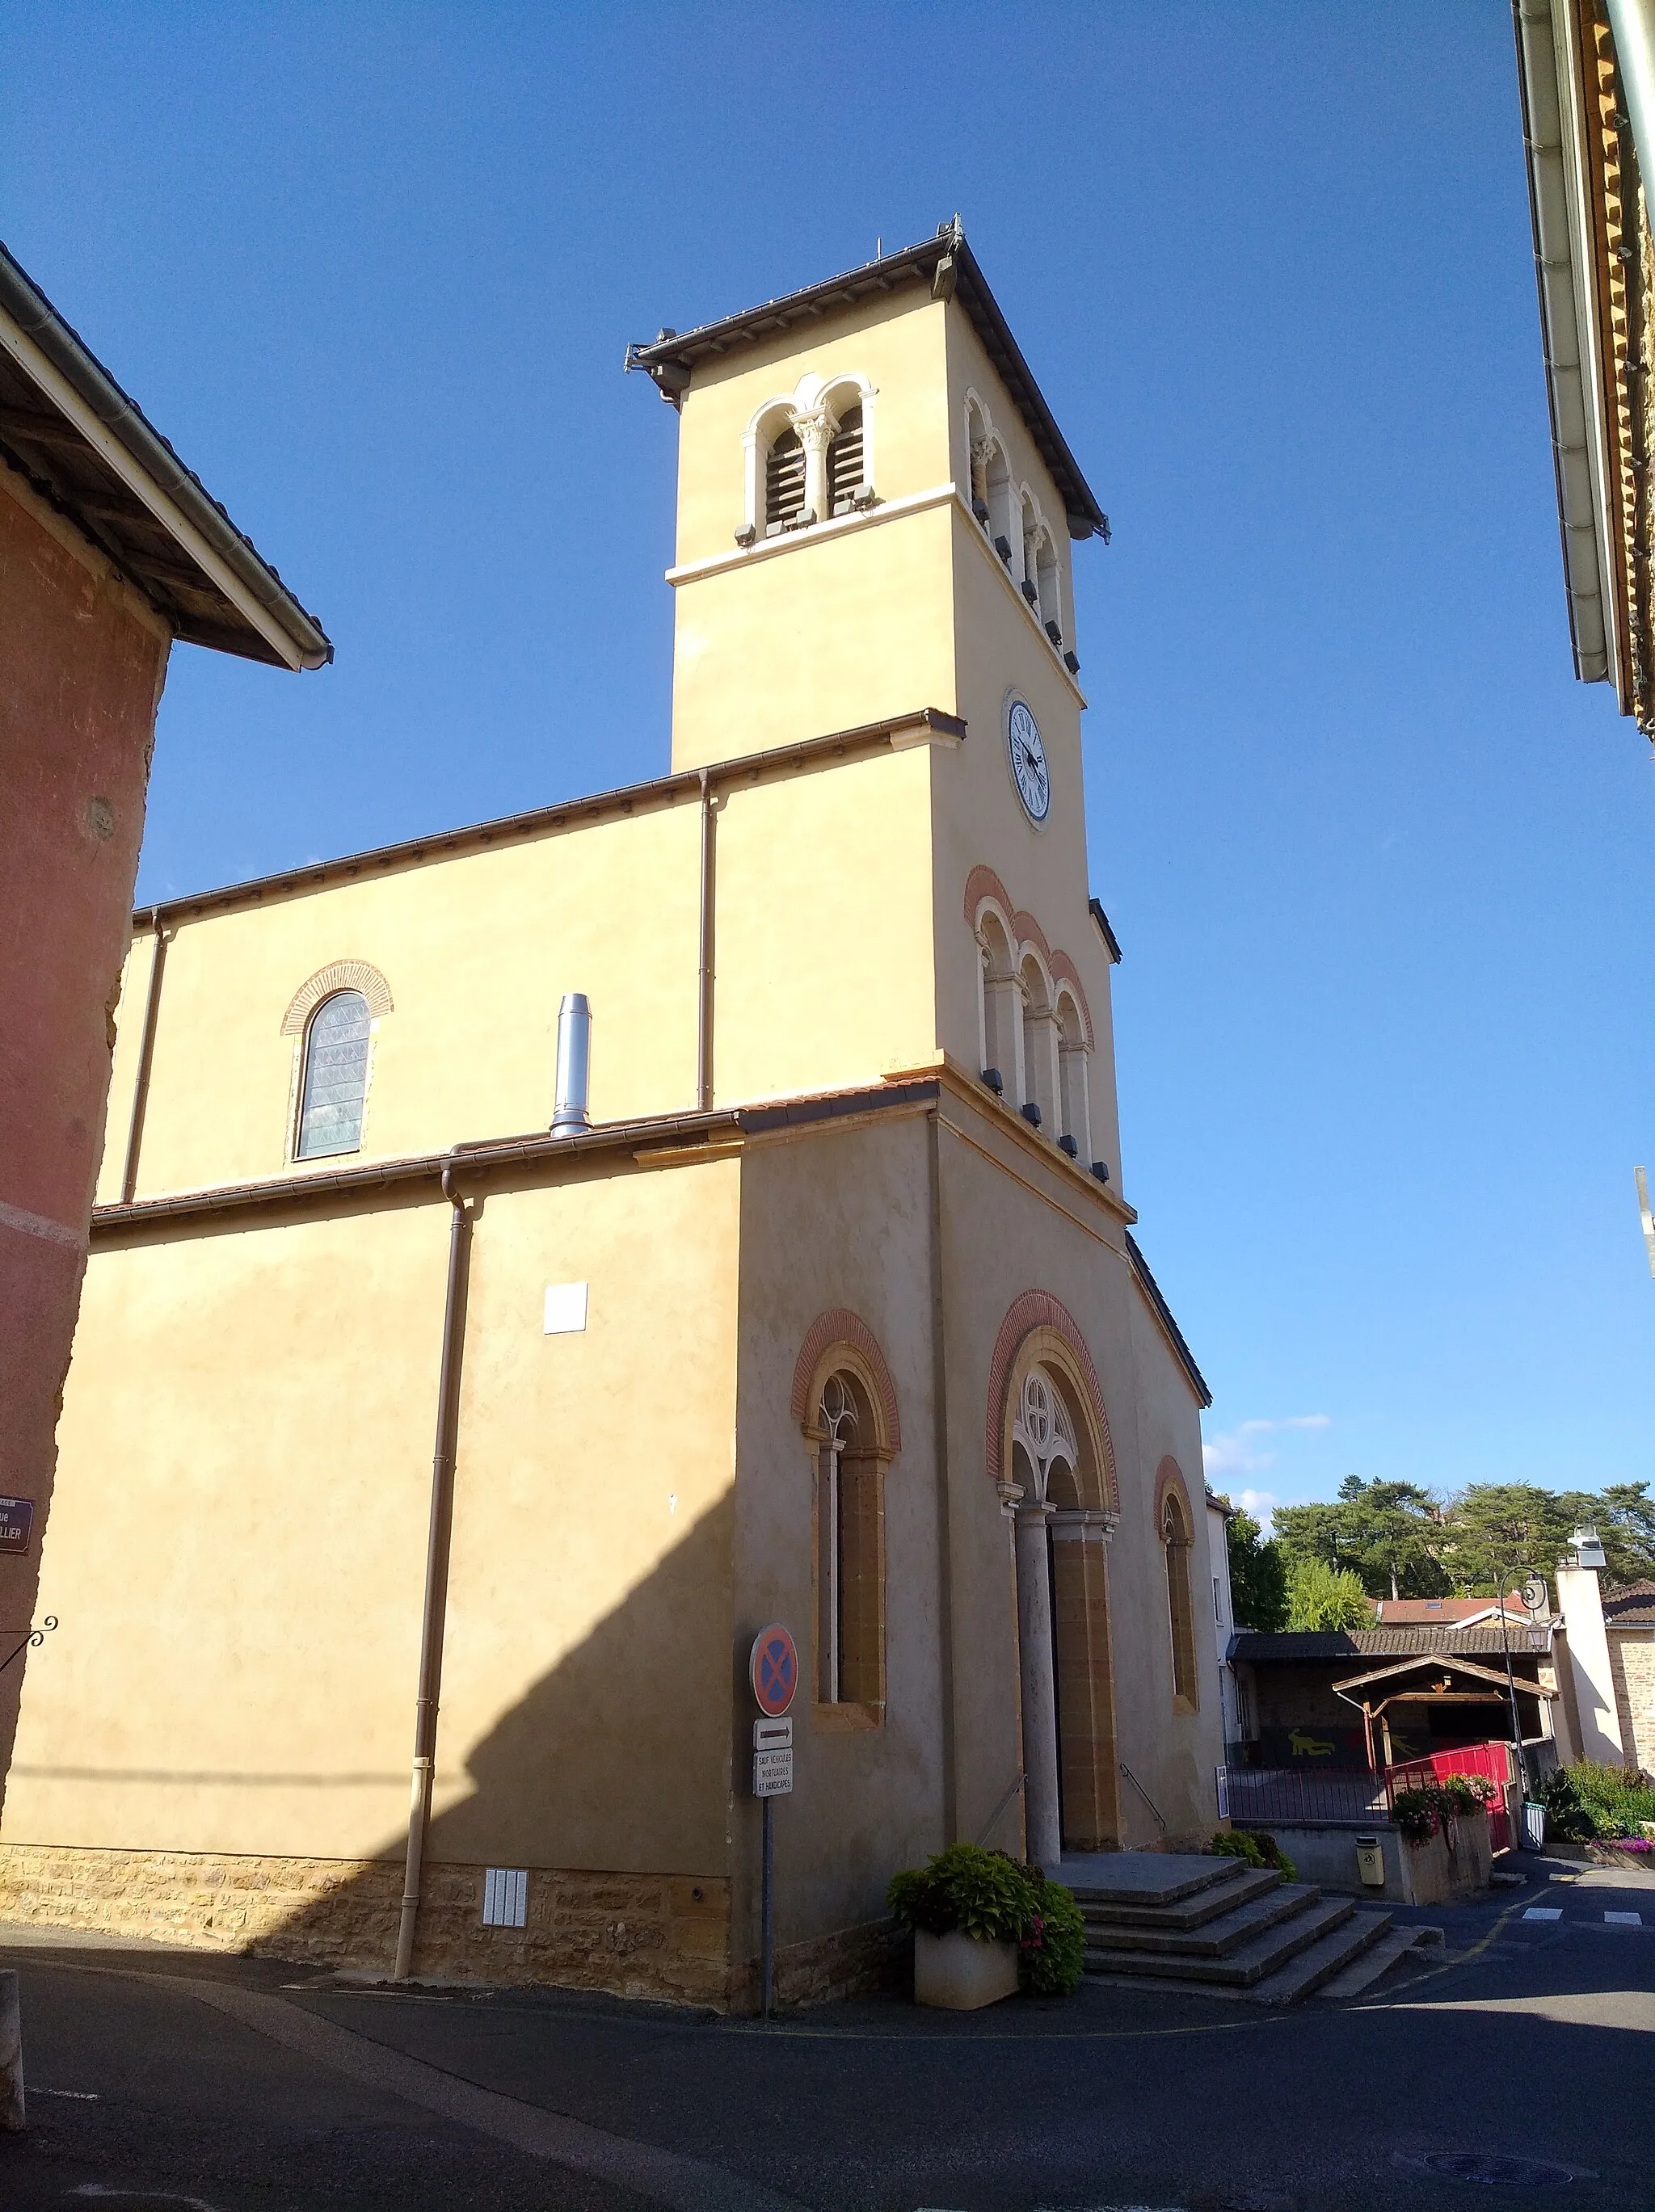
{"type": "MultiPolygon", "coordinates": [[[[427,1836],[416,1975],[726,2002],[732,1515],[730,1498],[704,1513],[471,1747],[469,1790],[427,1836]],[[489,1867],[527,1874],[522,1927],[482,1924],[489,1867]]],[[[451,1604],[449,1701],[491,1646],[489,1617],[451,1604]]],[[[438,1801],[456,1781],[443,1752],[438,1725],[438,1801]]],[[[310,1885],[281,1911],[250,1916],[239,1942],[223,1927],[208,1940],[389,1973],[405,1836],[383,1851],[308,1863],[310,1885]]],[[[292,1860],[243,1865],[268,1869],[268,1887],[292,1860]]],[[[511,1909],[513,1885],[500,1887],[511,1909]]]]}

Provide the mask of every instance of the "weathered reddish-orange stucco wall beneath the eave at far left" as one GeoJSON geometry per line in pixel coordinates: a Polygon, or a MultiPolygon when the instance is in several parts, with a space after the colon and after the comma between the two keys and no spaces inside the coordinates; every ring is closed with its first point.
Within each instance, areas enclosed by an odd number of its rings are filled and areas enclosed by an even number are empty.
{"type": "MultiPolygon", "coordinates": [[[[0,1659],[33,1615],[168,639],[0,469],[0,1659]]],[[[22,1661],[0,1674],[0,1787],[22,1661]]]]}

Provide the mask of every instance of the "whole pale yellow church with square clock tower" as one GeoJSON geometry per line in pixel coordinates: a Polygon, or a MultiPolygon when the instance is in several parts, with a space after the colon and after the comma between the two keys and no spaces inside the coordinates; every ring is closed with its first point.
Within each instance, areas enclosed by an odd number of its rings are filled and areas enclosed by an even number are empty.
{"type": "Polygon", "coordinates": [[[1201,1374],[1086,874],[1108,524],[956,223],[635,345],[670,770],[135,916],[0,1913],[750,2008],[1188,1847],[1201,1374]]]}

